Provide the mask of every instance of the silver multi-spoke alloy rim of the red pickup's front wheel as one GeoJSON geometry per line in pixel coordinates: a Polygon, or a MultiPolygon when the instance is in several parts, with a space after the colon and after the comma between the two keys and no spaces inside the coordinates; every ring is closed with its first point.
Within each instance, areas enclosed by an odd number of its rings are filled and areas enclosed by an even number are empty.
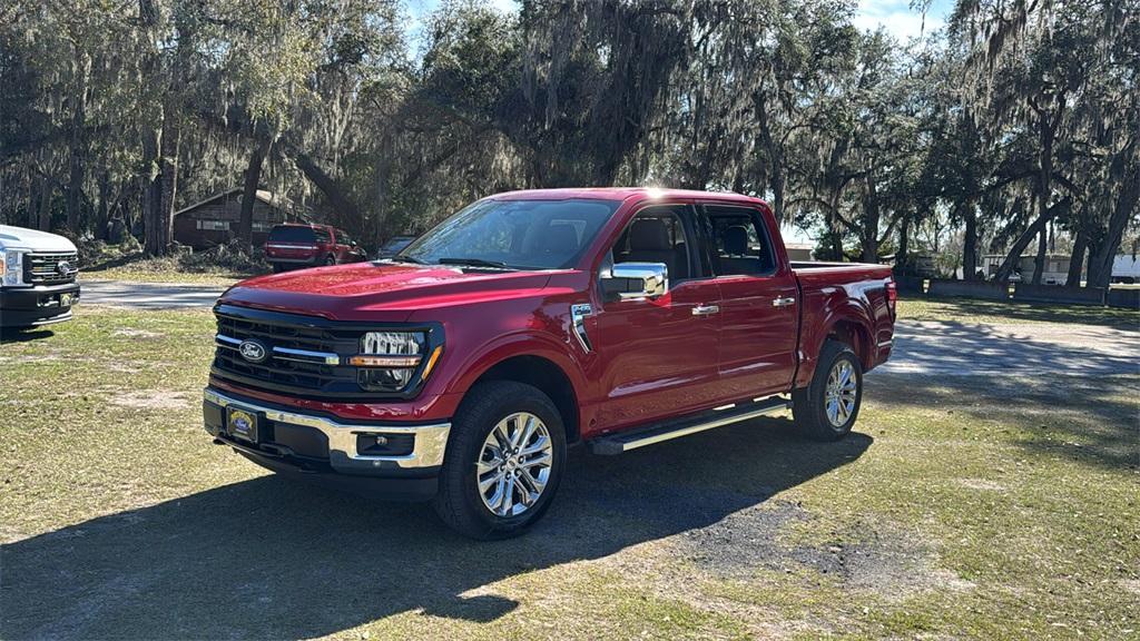
{"type": "Polygon", "coordinates": [[[475,463],[479,496],[491,513],[516,517],[546,488],[554,447],[546,423],[528,412],[511,414],[487,435],[475,463]]]}

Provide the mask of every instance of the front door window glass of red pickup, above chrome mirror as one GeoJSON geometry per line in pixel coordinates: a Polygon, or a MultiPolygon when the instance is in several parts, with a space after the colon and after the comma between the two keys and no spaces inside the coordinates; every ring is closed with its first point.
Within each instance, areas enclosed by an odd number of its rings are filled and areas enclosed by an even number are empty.
{"type": "Polygon", "coordinates": [[[614,243],[613,262],[663,262],[670,281],[690,278],[692,243],[681,218],[684,209],[660,206],[638,212],[614,243]]]}

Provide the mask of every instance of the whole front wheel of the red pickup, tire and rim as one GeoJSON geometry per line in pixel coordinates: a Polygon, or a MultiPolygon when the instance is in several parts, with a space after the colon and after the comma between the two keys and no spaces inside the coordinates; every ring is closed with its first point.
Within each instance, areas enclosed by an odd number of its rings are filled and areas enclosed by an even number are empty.
{"type": "Polygon", "coordinates": [[[514,381],[480,383],[451,423],[435,512],[472,538],[516,536],[554,500],[565,448],[562,417],[545,393],[514,381]]]}

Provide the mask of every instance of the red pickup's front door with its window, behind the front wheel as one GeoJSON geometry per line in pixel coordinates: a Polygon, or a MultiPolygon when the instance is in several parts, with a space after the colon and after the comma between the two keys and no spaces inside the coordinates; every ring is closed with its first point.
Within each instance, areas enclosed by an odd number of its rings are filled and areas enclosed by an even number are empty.
{"type": "Polygon", "coordinates": [[[603,300],[596,310],[603,431],[702,409],[719,396],[720,292],[695,260],[693,232],[690,205],[654,205],[634,217],[611,250],[613,262],[663,262],[669,290],[657,299],[603,300]]]}

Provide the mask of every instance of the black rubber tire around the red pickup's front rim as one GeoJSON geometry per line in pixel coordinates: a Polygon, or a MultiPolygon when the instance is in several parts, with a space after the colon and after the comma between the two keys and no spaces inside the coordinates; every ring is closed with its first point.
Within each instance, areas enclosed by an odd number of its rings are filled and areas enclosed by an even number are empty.
{"type": "Polygon", "coordinates": [[[518,536],[540,519],[554,500],[565,469],[565,451],[562,417],[545,393],[514,381],[480,383],[467,392],[453,419],[432,506],[445,524],[464,536],[483,541],[518,536]],[[483,503],[475,463],[496,424],[518,412],[534,414],[546,424],[552,446],[549,474],[531,506],[520,514],[502,517],[483,503]]]}

